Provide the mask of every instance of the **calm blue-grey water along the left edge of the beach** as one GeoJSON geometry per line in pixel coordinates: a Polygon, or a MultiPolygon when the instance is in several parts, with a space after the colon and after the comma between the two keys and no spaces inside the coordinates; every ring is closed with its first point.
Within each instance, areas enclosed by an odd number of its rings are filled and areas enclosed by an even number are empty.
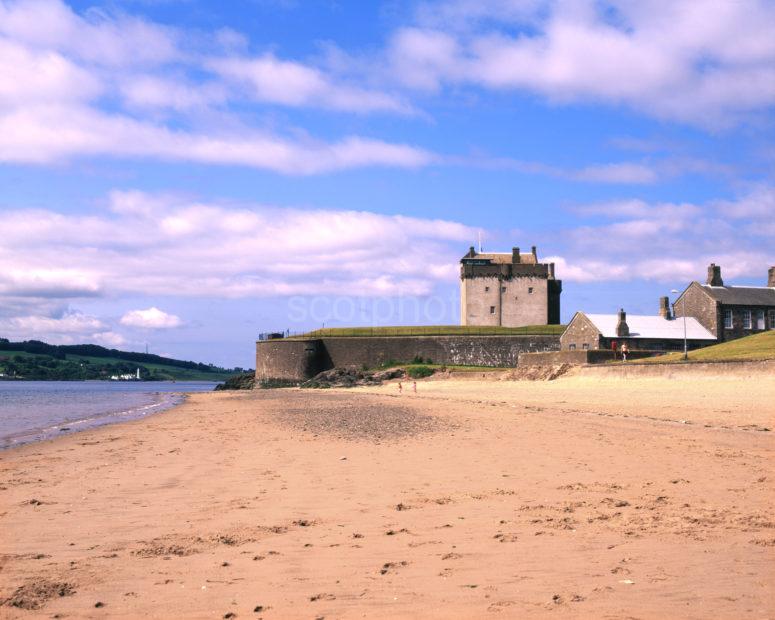
{"type": "Polygon", "coordinates": [[[0,449],[135,420],[215,383],[179,381],[0,381],[0,449]]]}

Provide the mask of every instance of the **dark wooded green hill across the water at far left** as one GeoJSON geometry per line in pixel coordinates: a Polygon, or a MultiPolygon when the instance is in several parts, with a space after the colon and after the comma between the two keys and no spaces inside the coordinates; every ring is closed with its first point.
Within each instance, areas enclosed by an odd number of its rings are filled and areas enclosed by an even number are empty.
{"type": "Polygon", "coordinates": [[[224,381],[244,371],[94,344],[51,345],[0,338],[0,380],[109,380],[114,375],[134,375],[138,368],[143,381],[224,381]]]}

